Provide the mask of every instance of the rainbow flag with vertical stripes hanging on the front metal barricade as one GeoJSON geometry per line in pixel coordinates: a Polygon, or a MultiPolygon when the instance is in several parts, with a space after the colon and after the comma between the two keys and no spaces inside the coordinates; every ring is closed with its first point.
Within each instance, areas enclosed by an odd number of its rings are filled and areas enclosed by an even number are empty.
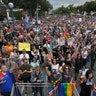
{"type": "Polygon", "coordinates": [[[62,83],[58,87],[58,96],[73,96],[73,84],[62,83]]]}

